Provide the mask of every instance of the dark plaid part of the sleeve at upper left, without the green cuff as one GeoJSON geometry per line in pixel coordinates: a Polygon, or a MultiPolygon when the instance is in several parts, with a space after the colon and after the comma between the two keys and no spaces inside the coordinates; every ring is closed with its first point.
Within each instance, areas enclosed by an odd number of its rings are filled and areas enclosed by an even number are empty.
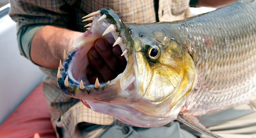
{"type": "Polygon", "coordinates": [[[25,25],[51,24],[67,27],[75,0],[10,0],[9,15],[18,33],[25,25]]]}

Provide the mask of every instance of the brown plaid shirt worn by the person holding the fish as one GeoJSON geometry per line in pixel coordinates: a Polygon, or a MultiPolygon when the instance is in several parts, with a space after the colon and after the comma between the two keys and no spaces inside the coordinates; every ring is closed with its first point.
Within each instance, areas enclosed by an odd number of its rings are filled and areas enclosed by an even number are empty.
{"type": "MultiPolygon", "coordinates": [[[[189,0],[11,0],[11,18],[18,32],[25,25],[52,24],[84,32],[82,17],[100,8],[112,8],[124,22],[149,23],[173,21],[190,16],[189,0]],[[155,12],[158,8],[158,12],[155,12]]],[[[86,108],[83,103],[65,95],[58,88],[57,70],[41,68],[47,76],[43,81],[45,97],[50,105],[52,124],[61,119],[65,135],[72,137],[78,123],[125,125],[113,116],[86,108]]]]}

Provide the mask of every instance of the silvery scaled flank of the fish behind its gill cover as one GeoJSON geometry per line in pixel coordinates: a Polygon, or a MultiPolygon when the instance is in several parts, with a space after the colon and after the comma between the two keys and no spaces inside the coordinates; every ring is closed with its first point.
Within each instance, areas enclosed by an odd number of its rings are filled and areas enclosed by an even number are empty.
{"type": "Polygon", "coordinates": [[[180,36],[195,54],[198,86],[185,115],[247,103],[256,93],[256,2],[239,1],[180,22],[180,36]],[[241,12],[242,11],[242,12],[241,12]]]}

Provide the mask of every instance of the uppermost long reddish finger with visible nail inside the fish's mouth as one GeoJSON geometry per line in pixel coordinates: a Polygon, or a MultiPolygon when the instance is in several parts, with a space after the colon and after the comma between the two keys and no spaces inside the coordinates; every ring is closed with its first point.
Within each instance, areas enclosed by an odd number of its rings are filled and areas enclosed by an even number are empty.
{"type": "Polygon", "coordinates": [[[110,45],[105,39],[101,38],[94,42],[94,46],[112,72],[120,72],[120,61],[113,53],[112,45],[110,45]]]}

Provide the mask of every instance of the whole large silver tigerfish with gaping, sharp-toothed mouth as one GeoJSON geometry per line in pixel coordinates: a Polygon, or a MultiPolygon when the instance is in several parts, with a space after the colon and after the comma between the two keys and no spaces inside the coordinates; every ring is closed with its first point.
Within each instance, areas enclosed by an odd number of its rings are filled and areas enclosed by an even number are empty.
{"type": "Polygon", "coordinates": [[[85,16],[90,28],[58,68],[58,85],[92,110],[137,127],[175,119],[222,138],[195,116],[248,103],[256,109],[256,1],[241,0],[175,22],[123,22],[110,8],[85,16]],[[89,84],[87,53],[105,38],[127,60],[113,80],[89,84]]]}

